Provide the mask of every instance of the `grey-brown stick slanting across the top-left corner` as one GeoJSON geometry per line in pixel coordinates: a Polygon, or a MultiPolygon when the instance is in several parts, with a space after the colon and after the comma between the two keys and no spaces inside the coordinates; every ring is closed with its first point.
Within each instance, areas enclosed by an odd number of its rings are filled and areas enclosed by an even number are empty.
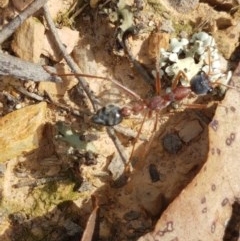
{"type": "Polygon", "coordinates": [[[35,0],[0,31],[0,44],[10,37],[29,16],[38,11],[47,0],[35,0]]]}

